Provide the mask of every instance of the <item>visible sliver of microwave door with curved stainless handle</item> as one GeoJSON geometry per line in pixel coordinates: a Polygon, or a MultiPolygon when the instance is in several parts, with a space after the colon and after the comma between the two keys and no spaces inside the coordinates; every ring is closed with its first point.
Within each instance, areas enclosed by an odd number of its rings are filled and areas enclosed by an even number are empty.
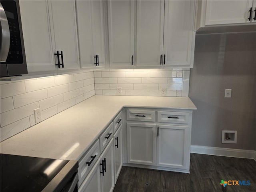
{"type": "Polygon", "coordinates": [[[10,48],[10,29],[6,14],[2,4],[0,4],[0,22],[1,22],[1,62],[5,62],[10,48]]]}

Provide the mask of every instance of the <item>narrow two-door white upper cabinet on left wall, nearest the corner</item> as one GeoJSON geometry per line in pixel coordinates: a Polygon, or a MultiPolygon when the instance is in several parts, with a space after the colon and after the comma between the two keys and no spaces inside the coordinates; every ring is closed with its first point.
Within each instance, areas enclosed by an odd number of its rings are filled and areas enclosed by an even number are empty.
{"type": "Polygon", "coordinates": [[[103,3],[76,1],[81,68],[105,66],[103,3]],[[97,62],[99,64],[96,64],[97,62]]]}

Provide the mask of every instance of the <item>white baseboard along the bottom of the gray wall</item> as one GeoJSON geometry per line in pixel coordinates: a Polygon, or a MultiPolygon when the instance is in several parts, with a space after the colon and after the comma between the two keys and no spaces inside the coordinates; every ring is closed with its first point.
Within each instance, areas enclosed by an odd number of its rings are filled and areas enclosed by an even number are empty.
{"type": "Polygon", "coordinates": [[[248,158],[248,159],[254,159],[256,161],[256,151],[254,150],[242,150],[242,149],[230,149],[230,148],[191,145],[190,151],[191,153],[248,158]]]}

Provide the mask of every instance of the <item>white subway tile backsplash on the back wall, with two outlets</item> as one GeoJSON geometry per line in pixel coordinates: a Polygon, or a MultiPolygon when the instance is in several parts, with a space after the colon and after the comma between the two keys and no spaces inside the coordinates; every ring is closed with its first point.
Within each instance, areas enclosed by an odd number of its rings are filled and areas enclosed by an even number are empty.
{"type": "Polygon", "coordinates": [[[95,94],[188,97],[190,69],[110,69],[94,71],[95,94]]]}

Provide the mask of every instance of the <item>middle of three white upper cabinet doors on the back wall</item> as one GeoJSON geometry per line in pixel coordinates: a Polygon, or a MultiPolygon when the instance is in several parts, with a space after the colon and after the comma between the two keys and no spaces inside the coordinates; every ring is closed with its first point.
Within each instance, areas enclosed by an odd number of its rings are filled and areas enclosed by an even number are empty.
{"type": "Polygon", "coordinates": [[[163,52],[164,1],[137,1],[136,65],[160,66],[163,52]]]}

